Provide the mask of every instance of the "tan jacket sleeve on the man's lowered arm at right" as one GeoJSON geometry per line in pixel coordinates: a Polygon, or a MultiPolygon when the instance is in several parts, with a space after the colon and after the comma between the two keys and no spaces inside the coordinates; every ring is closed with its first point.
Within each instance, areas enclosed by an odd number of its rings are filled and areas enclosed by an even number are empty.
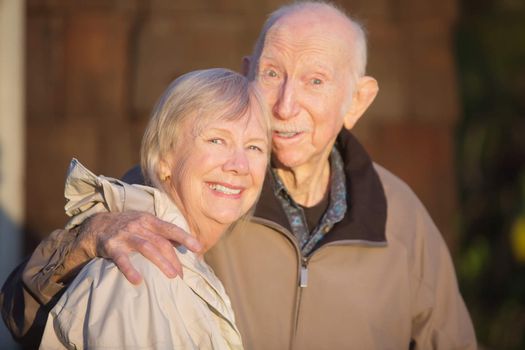
{"type": "Polygon", "coordinates": [[[477,349],[447,245],[426,210],[416,219],[413,349],[477,349]]]}

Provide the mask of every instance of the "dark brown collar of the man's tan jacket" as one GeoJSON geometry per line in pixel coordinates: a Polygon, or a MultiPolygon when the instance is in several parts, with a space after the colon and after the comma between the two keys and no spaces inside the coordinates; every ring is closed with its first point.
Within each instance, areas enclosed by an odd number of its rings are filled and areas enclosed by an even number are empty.
{"type": "MultiPolygon", "coordinates": [[[[370,156],[346,129],[340,132],[335,147],[344,163],[347,211],[343,220],[334,225],[316,249],[335,241],[385,245],[387,202],[370,156]]],[[[275,197],[273,182],[273,176],[267,174],[254,216],[273,221],[291,231],[286,214],[275,197]]]]}

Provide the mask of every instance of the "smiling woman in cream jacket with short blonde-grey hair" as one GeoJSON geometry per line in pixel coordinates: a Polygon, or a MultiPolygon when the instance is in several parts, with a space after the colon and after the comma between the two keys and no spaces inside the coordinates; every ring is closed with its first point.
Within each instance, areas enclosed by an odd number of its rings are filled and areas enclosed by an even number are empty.
{"type": "MultiPolygon", "coordinates": [[[[175,80],[147,126],[141,166],[150,186],[95,176],[73,160],[69,226],[100,211],[146,210],[211,248],[254,205],[269,158],[264,104],[241,75],[210,69],[175,80]]],[[[134,286],[110,261],[87,264],[51,310],[41,349],[242,348],[231,303],[201,256],[176,248],[184,278],[142,255],[134,286]]]]}

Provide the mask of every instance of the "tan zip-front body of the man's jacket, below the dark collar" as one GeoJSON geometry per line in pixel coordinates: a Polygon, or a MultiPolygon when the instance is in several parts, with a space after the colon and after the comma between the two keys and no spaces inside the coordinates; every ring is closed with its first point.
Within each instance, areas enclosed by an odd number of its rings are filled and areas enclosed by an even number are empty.
{"type": "Polygon", "coordinates": [[[207,254],[247,349],[477,348],[441,235],[412,191],[375,169],[388,201],[384,242],[334,240],[301,259],[290,230],[259,216],[207,254]]]}

